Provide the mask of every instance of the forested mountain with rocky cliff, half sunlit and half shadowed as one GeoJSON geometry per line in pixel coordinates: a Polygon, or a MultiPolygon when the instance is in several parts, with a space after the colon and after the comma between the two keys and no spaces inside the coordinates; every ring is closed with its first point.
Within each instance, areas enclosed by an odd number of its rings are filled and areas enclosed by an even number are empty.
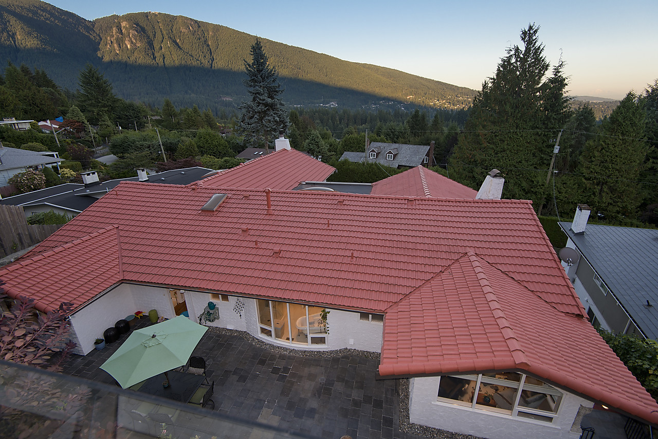
{"type": "MultiPolygon", "coordinates": [[[[44,69],[75,90],[86,63],[99,67],[124,99],[161,106],[237,107],[247,97],[244,59],[255,36],[163,13],[89,21],[37,0],[0,0],[0,59],[44,69]]],[[[288,105],[360,108],[388,103],[462,108],[476,91],[399,70],[351,63],[261,39],[288,105]]]]}

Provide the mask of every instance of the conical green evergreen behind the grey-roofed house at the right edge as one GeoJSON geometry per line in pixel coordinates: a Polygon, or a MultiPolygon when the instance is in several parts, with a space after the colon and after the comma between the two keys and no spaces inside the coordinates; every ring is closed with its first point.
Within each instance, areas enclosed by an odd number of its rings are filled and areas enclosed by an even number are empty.
{"type": "Polygon", "coordinates": [[[605,135],[586,145],[580,167],[585,202],[600,219],[621,224],[637,218],[638,180],[648,151],[644,132],[644,109],[629,92],[603,124],[605,135]]]}

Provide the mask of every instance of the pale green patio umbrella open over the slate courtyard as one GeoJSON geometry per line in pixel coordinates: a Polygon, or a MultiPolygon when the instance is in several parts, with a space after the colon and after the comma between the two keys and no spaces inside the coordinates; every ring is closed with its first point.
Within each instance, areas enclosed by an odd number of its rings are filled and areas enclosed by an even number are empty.
{"type": "Polygon", "coordinates": [[[130,387],[187,363],[207,330],[182,315],[135,330],[101,369],[122,388],[130,387]]]}

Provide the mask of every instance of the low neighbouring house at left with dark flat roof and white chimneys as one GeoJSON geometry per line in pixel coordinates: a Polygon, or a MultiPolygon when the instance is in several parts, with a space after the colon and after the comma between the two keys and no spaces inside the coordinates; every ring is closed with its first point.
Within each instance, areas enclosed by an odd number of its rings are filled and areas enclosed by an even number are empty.
{"type": "Polygon", "coordinates": [[[167,170],[147,175],[143,168],[137,170],[137,176],[99,182],[95,170],[82,172],[84,184],[66,183],[52,188],[45,188],[26,194],[14,195],[0,200],[0,205],[22,206],[26,217],[34,213],[54,211],[61,215],[75,217],[87,209],[94,201],[113,190],[123,181],[140,181],[149,183],[189,184],[201,180],[211,169],[193,167],[167,170]]]}

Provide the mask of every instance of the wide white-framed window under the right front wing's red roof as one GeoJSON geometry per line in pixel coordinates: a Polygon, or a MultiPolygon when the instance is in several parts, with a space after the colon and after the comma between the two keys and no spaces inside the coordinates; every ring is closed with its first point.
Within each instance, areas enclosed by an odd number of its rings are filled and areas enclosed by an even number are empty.
{"type": "Polygon", "coordinates": [[[532,376],[498,372],[442,376],[437,400],[550,423],[562,397],[562,392],[532,376]]]}

